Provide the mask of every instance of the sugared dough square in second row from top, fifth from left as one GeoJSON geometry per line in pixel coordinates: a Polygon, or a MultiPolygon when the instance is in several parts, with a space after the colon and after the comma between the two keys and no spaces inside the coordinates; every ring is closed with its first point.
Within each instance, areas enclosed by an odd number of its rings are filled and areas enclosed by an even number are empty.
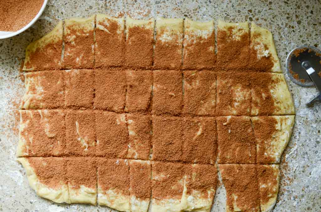
{"type": "Polygon", "coordinates": [[[153,114],[178,115],[182,111],[182,73],[176,70],[153,71],[153,114]]]}

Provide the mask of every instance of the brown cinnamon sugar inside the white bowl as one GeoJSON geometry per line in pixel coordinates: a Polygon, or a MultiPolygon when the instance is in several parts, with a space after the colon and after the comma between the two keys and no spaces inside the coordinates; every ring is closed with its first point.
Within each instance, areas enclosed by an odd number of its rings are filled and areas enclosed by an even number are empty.
{"type": "Polygon", "coordinates": [[[1,0],[0,31],[22,29],[38,14],[44,0],[1,0]]]}

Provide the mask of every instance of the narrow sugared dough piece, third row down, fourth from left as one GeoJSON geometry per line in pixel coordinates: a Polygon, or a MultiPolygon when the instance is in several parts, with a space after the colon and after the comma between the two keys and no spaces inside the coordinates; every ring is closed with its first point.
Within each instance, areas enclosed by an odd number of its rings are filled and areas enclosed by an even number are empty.
{"type": "Polygon", "coordinates": [[[151,121],[149,115],[126,114],[128,126],[127,158],[147,160],[151,150],[151,121]]]}

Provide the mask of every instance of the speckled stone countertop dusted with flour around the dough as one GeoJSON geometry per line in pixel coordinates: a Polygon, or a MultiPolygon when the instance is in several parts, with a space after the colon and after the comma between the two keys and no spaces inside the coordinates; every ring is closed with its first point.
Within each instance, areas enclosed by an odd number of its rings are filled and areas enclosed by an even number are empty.
{"type": "MultiPolygon", "coordinates": [[[[147,19],[169,18],[255,21],[272,31],[285,73],[285,59],[299,45],[321,48],[320,0],[292,1],[195,1],[181,0],[49,0],[40,19],[22,34],[0,40],[0,211],[114,211],[84,204],[57,204],[40,198],[30,188],[24,169],[16,162],[19,115],[24,93],[19,66],[30,42],[39,39],[59,20],[87,17],[96,13],[130,15],[147,19]]],[[[285,73],[296,107],[291,141],[282,156],[280,192],[274,211],[321,211],[321,105],[305,103],[317,94],[314,87],[294,84],[285,73]]],[[[216,192],[212,211],[225,211],[222,183],[216,192]]]]}

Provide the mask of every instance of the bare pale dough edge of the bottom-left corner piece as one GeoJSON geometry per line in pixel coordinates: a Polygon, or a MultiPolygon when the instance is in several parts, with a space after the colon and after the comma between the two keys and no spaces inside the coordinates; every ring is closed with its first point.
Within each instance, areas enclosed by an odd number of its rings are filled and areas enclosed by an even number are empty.
{"type": "Polygon", "coordinates": [[[39,181],[34,169],[30,166],[28,159],[18,158],[17,160],[26,170],[30,187],[36,192],[39,197],[43,197],[57,203],[70,203],[67,184],[60,182],[60,189],[48,188],[47,185],[39,181]]]}

